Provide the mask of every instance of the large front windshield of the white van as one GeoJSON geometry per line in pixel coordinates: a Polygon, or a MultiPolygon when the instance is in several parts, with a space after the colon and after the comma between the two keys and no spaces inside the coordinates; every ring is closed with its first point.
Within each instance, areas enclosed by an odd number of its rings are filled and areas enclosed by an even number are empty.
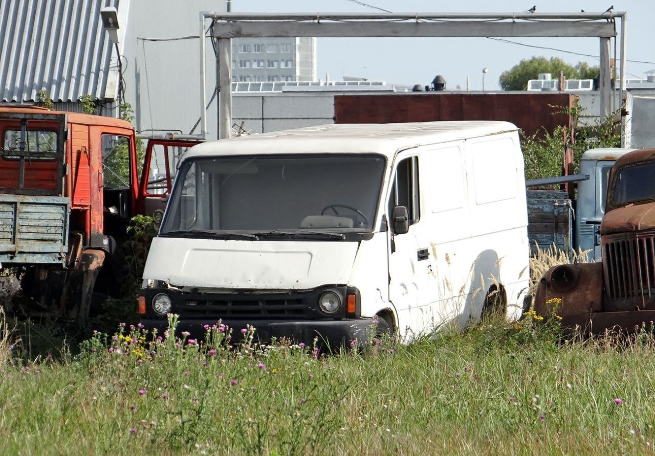
{"type": "Polygon", "coordinates": [[[370,231],[385,164],[375,154],[189,160],[160,234],[256,239],[370,231]]]}

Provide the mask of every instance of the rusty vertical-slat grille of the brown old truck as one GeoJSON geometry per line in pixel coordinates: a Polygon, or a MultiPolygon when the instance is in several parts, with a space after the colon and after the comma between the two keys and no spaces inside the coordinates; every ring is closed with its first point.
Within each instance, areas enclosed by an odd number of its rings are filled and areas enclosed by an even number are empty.
{"type": "Polygon", "coordinates": [[[655,232],[603,239],[605,284],[610,300],[643,305],[655,298],[655,232]]]}

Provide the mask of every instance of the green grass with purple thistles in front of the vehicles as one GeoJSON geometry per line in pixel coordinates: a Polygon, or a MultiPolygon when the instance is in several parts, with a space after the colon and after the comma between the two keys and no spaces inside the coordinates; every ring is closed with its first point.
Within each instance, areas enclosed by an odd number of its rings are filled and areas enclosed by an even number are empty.
{"type": "Polygon", "coordinates": [[[555,343],[555,328],[527,319],[318,358],[285,343],[228,351],[212,334],[209,347],[148,346],[128,328],[36,362],[0,342],[3,453],[654,451],[645,332],[555,343]]]}

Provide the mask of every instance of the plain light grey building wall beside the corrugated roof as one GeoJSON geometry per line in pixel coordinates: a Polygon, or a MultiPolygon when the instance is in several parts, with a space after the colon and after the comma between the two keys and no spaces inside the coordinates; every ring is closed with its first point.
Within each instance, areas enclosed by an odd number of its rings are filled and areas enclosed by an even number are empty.
{"type": "MultiPolygon", "coordinates": [[[[181,130],[188,134],[200,117],[199,14],[225,12],[225,2],[132,0],[129,5],[122,54],[125,101],[134,109],[134,125],[137,130],[181,130]]],[[[209,101],[215,87],[215,57],[209,38],[205,59],[209,101]]],[[[207,111],[209,139],[217,136],[216,104],[214,99],[207,111]]],[[[194,133],[200,133],[199,125],[194,133]]]]}

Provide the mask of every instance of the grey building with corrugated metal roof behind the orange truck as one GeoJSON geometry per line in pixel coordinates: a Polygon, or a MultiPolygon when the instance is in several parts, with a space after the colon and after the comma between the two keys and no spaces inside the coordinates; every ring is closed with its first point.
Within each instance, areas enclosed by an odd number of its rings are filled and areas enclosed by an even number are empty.
{"type": "MultiPolygon", "coordinates": [[[[0,101],[36,102],[43,89],[56,109],[81,112],[79,97],[89,95],[100,101],[99,114],[114,116],[120,53],[124,101],[134,109],[136,128],[189,133],[200,113],[198,14],[223,12],[221,3],[2,0],[0,101]],[[118,52],[100,19],[100,10],[108,6],[117,9],[118,52]]],[[[211,94],[215,79],[209,44],[206,90],[211,94]]],[[[215,125],[215,109],[208,113],[215,125]]]]}

